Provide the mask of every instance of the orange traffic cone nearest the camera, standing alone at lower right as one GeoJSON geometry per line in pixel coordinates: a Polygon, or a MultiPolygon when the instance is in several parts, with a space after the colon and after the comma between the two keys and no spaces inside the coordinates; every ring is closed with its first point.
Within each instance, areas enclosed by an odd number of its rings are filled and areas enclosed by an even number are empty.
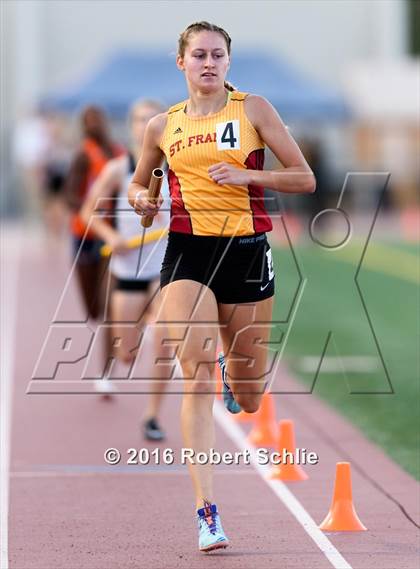
{"type": "Polygon", "coordinates": [[[323,531],[365,531],[353,506],[349,462],[337,462],[334,495],[327,517],[319,525],[323,531]]]}

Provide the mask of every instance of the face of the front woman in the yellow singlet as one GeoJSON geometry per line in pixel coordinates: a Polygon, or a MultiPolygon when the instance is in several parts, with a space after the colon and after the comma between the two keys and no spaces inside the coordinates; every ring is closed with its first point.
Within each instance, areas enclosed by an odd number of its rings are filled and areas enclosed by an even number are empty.
{"type": "Polygon", "coordinates": [[[178,68],[185,72],[187,83],[207,93],[223,87],[229,63],[224,37],[207,31],[192,34],[184,57],[177,58],[178,68]]]}

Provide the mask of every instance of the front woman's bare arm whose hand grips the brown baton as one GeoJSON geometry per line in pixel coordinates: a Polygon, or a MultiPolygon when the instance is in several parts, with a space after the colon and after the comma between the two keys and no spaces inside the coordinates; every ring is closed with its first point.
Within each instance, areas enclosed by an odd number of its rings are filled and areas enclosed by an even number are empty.
{"type": "Polygon", "coordinates": [[[144,135],[142,154],[128,188],[128,201],[139,215],[155,216],[162,205],[161,196],[157,203],[148,198],[148,186],[153,170],[159,168],[163,162],[164,155],[159,144],[166,121],[166,113],[156,115],[149,121],[144,135]]]}

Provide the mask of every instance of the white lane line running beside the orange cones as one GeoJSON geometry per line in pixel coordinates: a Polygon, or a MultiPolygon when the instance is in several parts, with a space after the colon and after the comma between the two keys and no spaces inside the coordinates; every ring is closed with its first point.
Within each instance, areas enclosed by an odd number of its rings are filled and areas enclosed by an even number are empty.
{"type": "Polygon", "coordinates": [[[351,565],[349,565],[341,553],[318,528],[314,520],[286,484],[281,482],[281,480],[270,480],[267,478],[270,473],[270,467],[258,462],[254,447],[249,445],[245,433],[235,423],[233,418],[228,415],[223,404],[219,401],[215,401],[214,404],[214,417],[219,426],[239,449],[249,450],[252,466],[281,502],[283,502],[289,512],[296,518],[309,537],[316,543],[331,565],[335,567],[335,569],[352,569],[351,565]]]}

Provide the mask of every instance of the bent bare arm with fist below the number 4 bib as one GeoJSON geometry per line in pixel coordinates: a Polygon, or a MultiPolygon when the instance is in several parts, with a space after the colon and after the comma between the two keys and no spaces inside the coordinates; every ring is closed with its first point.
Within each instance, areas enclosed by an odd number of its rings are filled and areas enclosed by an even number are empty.
{"type": "Polygon", "coordinates": [[[211,178],[218,184],[253,184],[284,193],[313,193],[313,172],[274,107],[263,97],[248,95],[245,112],[284,169],[244,170],[220,162],[209,168],[211,178]]]}

